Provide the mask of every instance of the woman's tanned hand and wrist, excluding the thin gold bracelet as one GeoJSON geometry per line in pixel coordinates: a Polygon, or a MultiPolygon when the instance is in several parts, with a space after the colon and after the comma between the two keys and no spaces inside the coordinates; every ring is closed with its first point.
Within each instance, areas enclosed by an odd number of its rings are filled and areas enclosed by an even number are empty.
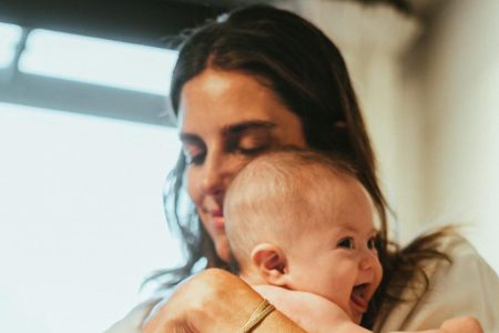
{"type": "MultiPolygon", "coordinates": [[[[171,296],[143,325],[145,333],[236,332],[263,299],[244,281],[218,269],[206,270],[171,296]]],[[[288,317],[273,311],[253,332],[304,333],[288,317]]]]}

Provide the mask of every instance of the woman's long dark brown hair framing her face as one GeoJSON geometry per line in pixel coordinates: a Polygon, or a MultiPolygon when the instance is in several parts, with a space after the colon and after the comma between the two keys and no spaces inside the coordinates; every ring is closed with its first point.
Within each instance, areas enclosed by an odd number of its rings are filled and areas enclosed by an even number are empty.
{"type": "MultiPolygon", "coordinates": [[[[370,326],[375,310],[386,299],[390,276],[397,275],[390,272],[397,270],[397,260],[400,261],[397,253],[400,252],[388,242],[387,202],[378,184],[373,148],[339,50],[319,29],[295,13],[268,6],[236,10],[185,36],[171,84],[175,113],[183,85],[207,68],[244,72],[258,79],[301,119],[312,149],[342,155],[358,170],[358,178],[370,193],[379,215],[378,251],[387,276],[371,302],[373,313],[365,316],[365,325],[370,326]]],[[[161,278],[166,285],[192,274],[202,259],[207,260],[207,266],[226,268],[196,213],[180,212],[185,167],[181,154],[167,179],[165,211],[170,226],[179,231],[184,241],[186,262],[176,270],[160,271],[151,276],[161,278]]],[[[416,265],[417,261],[413,266],[416,265]]]]}

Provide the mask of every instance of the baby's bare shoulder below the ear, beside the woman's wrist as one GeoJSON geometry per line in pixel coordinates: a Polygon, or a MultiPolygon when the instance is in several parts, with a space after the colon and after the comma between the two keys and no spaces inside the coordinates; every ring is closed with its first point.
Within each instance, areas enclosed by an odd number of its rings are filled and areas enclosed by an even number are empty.
{"type": "Polygon", "coordinates": [[[254,285],[253,289],[307,332],[332,332],[332,327],[354,325],[338,305],[316,294],[274,285],[254,285]]]}

